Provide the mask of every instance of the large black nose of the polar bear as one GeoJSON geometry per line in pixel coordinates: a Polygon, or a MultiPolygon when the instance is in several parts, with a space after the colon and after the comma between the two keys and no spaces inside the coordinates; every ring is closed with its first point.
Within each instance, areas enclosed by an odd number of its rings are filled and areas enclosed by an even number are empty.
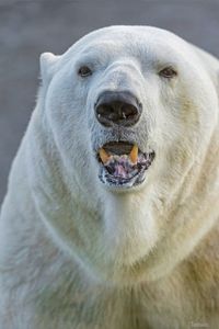
{"type": "Polygon", "coordinates": [[[132,126],[139,121],[141,104],[130,92],[103,92],[95,104],[97,121],[110,127],[112,125],[132,126]]]}

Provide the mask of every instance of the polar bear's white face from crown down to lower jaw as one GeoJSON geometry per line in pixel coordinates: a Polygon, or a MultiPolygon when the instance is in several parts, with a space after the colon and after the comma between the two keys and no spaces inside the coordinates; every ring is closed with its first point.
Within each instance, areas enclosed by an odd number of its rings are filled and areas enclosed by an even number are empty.
{"type": "Polygon", "coordinates": [[[132,192],[150,175],[187,170],[209,132],[209,78],[198,60],[184,41],[151,27],[101,30],[61,58],[44,55],[55,71],[48,121],[81,182],[132,192]]]}

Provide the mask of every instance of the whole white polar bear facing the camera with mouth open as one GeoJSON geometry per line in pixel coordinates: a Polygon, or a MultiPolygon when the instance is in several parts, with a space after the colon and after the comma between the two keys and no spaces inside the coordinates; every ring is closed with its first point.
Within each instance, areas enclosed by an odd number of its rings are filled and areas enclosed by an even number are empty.
{"type": "Polygon", "coordinates": [[[218,328],[218,71],[151,26],[41,56],[1,209],[1,329],[218,328]]]}

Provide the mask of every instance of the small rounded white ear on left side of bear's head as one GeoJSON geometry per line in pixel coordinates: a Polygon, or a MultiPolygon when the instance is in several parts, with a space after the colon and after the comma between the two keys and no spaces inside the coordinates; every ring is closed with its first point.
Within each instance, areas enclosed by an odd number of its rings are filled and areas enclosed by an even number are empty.
{"type": "Polygon", "coordinates": [[[53,53],[43,53],[41,55],[39,63],[43,82],[50,81],[55,71],[55,64],[57,63],[58,58],[59,56],[56,56],[53,53]]]}

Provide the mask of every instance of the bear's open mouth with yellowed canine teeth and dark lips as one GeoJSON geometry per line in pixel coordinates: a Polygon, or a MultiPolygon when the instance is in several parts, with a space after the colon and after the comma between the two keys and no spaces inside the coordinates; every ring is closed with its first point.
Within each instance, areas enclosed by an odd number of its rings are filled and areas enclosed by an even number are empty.
{"type": "Polygon", "coordinates": [[[146,179],[146,171],[154,159],[154,151],[142,152],[136,144],[110,141],[97,154],[99,178],[110,186],[131,188],[146,179]]]}

